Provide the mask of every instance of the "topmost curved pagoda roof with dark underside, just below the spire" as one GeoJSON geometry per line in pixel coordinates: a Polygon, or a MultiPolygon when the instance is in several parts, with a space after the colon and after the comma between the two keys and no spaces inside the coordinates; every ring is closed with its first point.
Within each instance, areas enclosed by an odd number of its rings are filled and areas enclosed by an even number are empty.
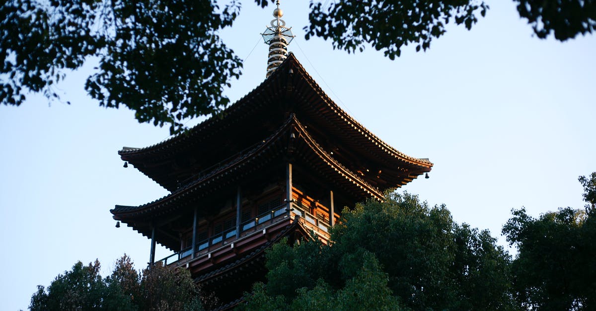
{"type": "MultiPolygon", "coordinates": [[[[262,125],[259,117],[270,116],[271,111],[278,110],[298,114],[304,124],[303,127],[311,125],[316,127],[316,130],[312,130],[309,135],[316,136],[313,140],[319,145],[325,144],[325,148],[330,150],[329,153],[333,154],[334,148],[342,148],[344,157],[350,162],[352,160],[355,162],[352,166],[362,167],[362,170],[352,167],[352,171],[361,171],[359,173],[364,176],[362,171],[367,170],[368,166],[382,166],[393,170],[393,175],[405,175],[405,179],[390,176],[389,180],[379,188],[401,186],[403,181],[409,182],[416,176],[429,172],[433,166],[433,163],[426,158],[415,158],[401,153],[353,119],[322,91],[294,54],[288,55],[284,63],[271,76],[249,94],[226,108],[220,116],[211,117],[187,132],[150,147],[125,147],[119,151],[119,154],[122,160],[128,161],[158,184],[174,192],[181,187],[187,187],[184,184],[189,182],[188,176],[182,174],[187,173],[191,165],[196,167],[197,171],[193,174],[202,175],[213,165],[221,163],[219,159],[214,160],[215,155],[242,156],[238,153],[247,151],[243,148],[247,146],[242,145],[242,142],[238,142],[240,147],[230,151],[230,154],[225,154],[228,148],[219,145],[226,140],[243,140],[235,138],[237,135],[234,133],[238,131],[253,131],[254,141],[266,137],[266,135],[259,136],[264,133],[263,131],[256,132],[262,125]],[[213,156],[204,157],[210,161],[201,160],[199,157],[198,163],[175,163],[175,159],[181,158],[184,154],[198,152],[212,153],[213,156]]],[[[283,122],[283,119],[279,120],[280,123],[283,122]]],[[[273,127],[277,128],[277,126],[273,127]]],[[[372,181],[367,176],[364,176],[364,179],[372,181]]],[[[196,184],[197,181],[190,182],[196,184]]]]}

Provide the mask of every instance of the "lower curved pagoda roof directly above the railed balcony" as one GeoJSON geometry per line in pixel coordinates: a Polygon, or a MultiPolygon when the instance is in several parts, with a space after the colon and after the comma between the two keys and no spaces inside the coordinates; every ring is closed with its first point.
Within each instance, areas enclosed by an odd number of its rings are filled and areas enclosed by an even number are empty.
{"type": "MultiPolygon", "coordinates": [[[[114,219],[131,223],[135,230],[150,236],[151,219],[168,215],[209,194],[213,189],[237,181],[241,176],[250,174],[260,167],[288,154],[307,161],[313,170],[322,175],[331,176],[328,182],[346,189],[354,195],[353,199],[362,201],[366,198],[382,198],[382,192],[369,184],[357,173],[344,167],[333,155],[325,151],[311,136],[305,125],[291,114],[286,122],[269,138],[253,145],[250,150],[238,153],[185,185],[156,201],[141,206],[120,206],[110,210],[114,219]]],[[[201,212],[201,211],[200,211],[201,212]]],[[[202,211],[206,213],[207,211],[202,211]]]]}

